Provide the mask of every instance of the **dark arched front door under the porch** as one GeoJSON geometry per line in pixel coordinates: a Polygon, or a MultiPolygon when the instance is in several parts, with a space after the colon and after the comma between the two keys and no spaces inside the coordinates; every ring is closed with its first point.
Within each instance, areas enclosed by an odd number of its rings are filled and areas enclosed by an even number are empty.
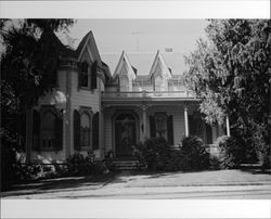
{"type": "Polygon", "coordinates": [[[115,145],[117,157],[132,155],[132,146],[137,143],[136,118],[132,114],[120,114],[115,120],[115,145]]]}

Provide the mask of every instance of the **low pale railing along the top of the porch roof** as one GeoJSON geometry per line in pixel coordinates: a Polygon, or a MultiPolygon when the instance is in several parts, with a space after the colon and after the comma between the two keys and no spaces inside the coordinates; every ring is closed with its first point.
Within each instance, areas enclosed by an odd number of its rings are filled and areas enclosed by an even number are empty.
{"type": "Polygon", "coordinates": [[[188,90],[181,91],[124,91],[102,92],[102,98],[195,98],[188,90]]]}

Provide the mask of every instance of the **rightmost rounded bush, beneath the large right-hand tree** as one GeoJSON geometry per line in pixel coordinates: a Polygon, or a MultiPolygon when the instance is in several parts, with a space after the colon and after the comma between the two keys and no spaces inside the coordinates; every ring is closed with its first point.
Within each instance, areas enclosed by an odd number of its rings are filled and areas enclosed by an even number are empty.
{"type": "Polygon", "coordinates": [[[238,166],[244,157],[244,150],[241,142],[234,137],[222,136],[215,142],[218,154],[215,158],[218,159],[220,169],[230,169],[238,166]]]}

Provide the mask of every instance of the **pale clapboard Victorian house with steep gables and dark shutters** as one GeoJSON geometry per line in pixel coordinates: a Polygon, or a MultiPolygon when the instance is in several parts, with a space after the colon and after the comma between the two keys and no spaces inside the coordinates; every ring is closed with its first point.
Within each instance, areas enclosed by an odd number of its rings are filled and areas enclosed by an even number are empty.
{"type": "Polygon", "coordinates": [[[138,60],[134,55],[122,52],[112,69],[91,31],[76,50],[54,34],[44,33],[40,40],[48,38],[61,51],[61,62],[55,89],[41,96],[27,117],[28,162],[63,163],[75,152],[87,155],[90,150],[96,159],[108,153],[127,158],[132,146],[147,138],[163,137],[178,145],[195,134],[212,144],[225,132],[224,126],[204,123],[201,100],[183,86],[182,75],[175,74],[179,67],[167,65],[168,54],[157,51],[152,60],[143,57],[150,68],[142,69],[130,62],[138,60]]]}

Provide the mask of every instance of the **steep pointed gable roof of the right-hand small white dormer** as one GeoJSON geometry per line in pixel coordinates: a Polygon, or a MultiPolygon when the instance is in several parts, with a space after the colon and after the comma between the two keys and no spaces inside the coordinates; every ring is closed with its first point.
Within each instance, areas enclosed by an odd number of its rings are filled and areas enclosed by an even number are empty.
{"type": "Polygon", "coordinates": [[[154,62],[153,62],[153,65],[151,67],[150,77],[154,76],[157,73],[157,68],[160,69],[162,76],[164,76],[166,78],[172,77],[171,70],[168,68],[159,50],[157,51],[155,59],[154,59],[154,62]]]}

